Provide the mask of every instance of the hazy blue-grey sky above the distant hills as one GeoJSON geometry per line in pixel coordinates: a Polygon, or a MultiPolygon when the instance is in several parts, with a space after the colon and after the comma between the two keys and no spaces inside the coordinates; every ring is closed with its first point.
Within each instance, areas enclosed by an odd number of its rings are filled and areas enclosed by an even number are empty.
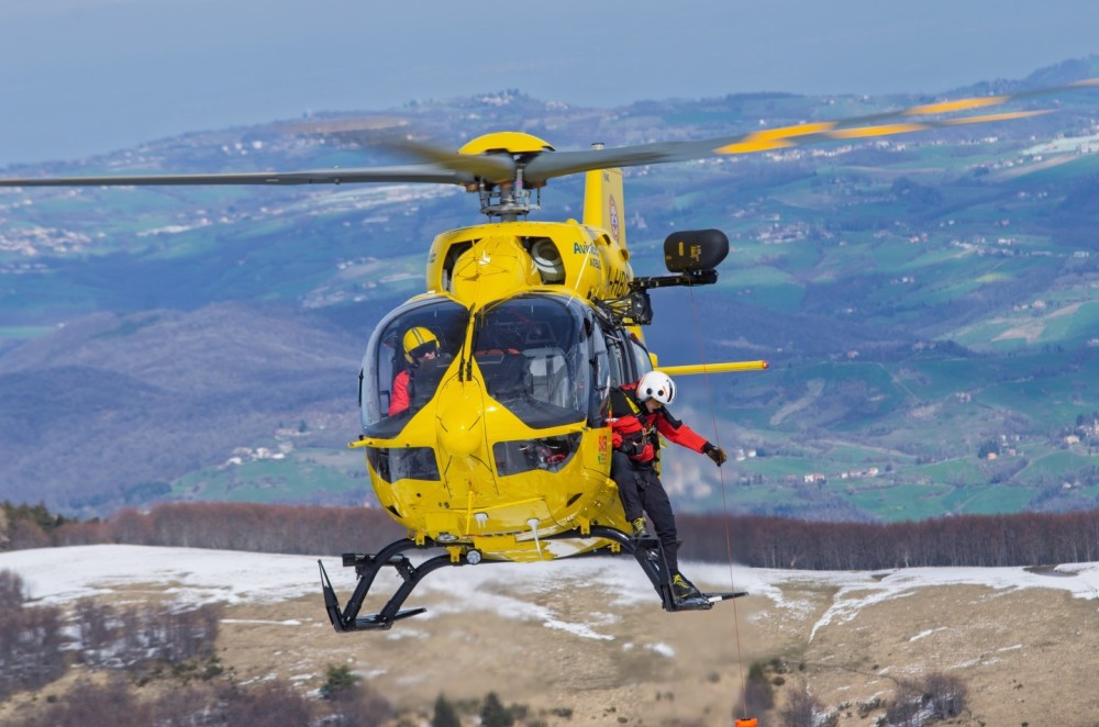
{"type": "Polygon", "coordinates": [[[0,0],[0,166],[517,88],[940,91],[1099,53],[1097,0],[0,0]]]}

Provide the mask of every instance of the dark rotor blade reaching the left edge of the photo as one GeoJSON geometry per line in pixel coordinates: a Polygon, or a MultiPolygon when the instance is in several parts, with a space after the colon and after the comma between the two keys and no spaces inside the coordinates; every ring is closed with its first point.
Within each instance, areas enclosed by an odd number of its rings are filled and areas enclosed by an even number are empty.
{"type": "Polygon", "coordinates": [[[0,187],[141,187],[153,184],[343,184],[351,182],[426,182],[468,184],[468,171],[434,164],[396,167],[317,169],[311,171],[255,171],[217,175],[111,175],[100,177],[0,178],[0,187]]]}

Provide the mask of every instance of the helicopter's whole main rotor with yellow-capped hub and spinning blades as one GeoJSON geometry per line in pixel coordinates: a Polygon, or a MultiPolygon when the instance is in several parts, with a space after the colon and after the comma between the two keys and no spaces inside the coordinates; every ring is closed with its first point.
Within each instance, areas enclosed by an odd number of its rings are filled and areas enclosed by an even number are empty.
{"type": "Polygon", "coordinates": [[[595,169],[673,164],[740,154],[787,149],[810,144],[909,134],[913,132],[1025,119],[1048,113],[1048,109],[1000,111],[954,115],[1001,107],[1012,101],[1052,96],[1099,87],[1099,78],[1089,78],[1054,88],[997,96],[922,103],[899,111],[853,116],[836,121],[809,122],[696,142],[665,142],[556,152],[531,134],[503,132],[479,136],[458,152],[412,142],[387,145],[419,159],[420,164],[386,167],[313,169],[249,174],[197,175],[110,175],[96,177],[45,177],[0,179],[0,187],[131,187],[153,184],[345,184],[363,182],[459,184],[478,191],[481,211],[490,216],[514,219],[537,209],[530,189],[540,188],[555,177],[595,169]]]}

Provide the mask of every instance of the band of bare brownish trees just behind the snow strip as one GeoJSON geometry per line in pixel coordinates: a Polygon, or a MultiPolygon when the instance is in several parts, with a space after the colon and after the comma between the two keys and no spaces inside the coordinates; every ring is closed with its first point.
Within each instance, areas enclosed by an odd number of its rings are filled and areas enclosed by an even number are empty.
{"type": "MultiPolygon", "coordinates": [[[[379,508],[173,503],[106,521],[0,508],[0,550],[122,543],[336,556],[376,552],[404,532],[379,508]]],[[[881,570],[999,568],[1099,560],[1099,511],[963,515],[919,523],[821,523],[755,515],[682,515],[684,558],[753,568],[881,570]]]]}

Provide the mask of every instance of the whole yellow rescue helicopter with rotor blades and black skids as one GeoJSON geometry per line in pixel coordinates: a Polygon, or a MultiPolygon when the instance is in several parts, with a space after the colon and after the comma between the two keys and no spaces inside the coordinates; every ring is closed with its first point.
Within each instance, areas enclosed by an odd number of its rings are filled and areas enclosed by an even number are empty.
{"type": "MultiPolygon", "coordinates": [[[[699,142],[556,152],[531,134],[502,132],[477,137],[457,153],[402,143],[419,161],[392,167],[9,178],[0,186],[420,182],[476,192],[489,222],[435,237],[425,292],[385,316],[367,345],[358,385],[363,432],[348,446],[364,451],[378,500],[408,537],[377,553],[344,553],[344,566],[358,578],[345,607],[321,566],[333,627],[388,629],[423,613],[402,605],[440,568],[598,553],[632,555],[665,609],[704,609],[743,593],[677,599],[659,541],[626,535],[610,478],[607,401],[612,388],[656,365],[642,328],[653,318],[650,291],[715,282],[729,241],[717,230],[673,233],[664,242],[669,275],[635,276],[623,224],[622,168],[1020,119],[1044,111],[926,116],[1097,85],[1090,79],[699,142]],[[548,180],[581,172],[581,220],[529,220],[548,180]],[[443,552],[414,564],[406,553],[421,549],[443,552]],[[360,615],[376,577],[389,567],[401,585],[378,613],[360,615]]],[[[766,367],[737,361],[662,370],[681,376],[766,367]]]]}

